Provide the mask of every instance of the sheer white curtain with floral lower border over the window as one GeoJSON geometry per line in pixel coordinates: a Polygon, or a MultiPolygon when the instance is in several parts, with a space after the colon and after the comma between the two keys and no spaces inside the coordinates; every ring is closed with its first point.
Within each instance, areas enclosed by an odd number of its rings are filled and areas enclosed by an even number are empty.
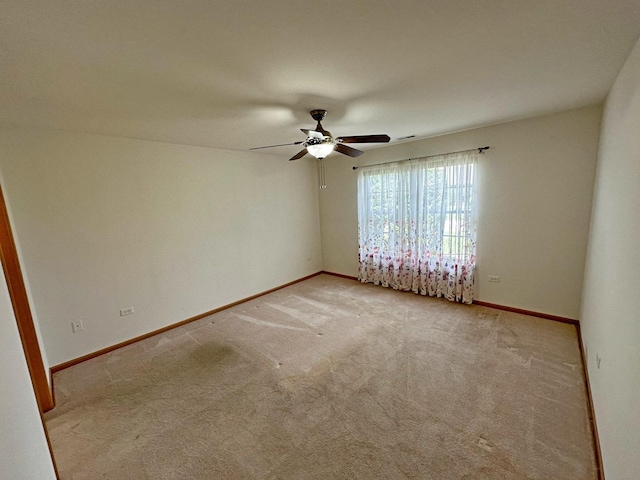
{"type": "Polygon", "coordinates": [[[477,152],[361,167],[361,282],[473,301],[477,152]]]}

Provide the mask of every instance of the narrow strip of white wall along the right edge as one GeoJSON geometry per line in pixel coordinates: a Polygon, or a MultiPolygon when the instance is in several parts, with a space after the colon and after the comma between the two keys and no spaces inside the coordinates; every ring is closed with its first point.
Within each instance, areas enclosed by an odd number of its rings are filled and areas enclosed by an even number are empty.
{"type": "Polygon", "coordinates": [[[639,247],[640,42],[605,105],[582,300],[607,480],[640,476],[639,247]]]}

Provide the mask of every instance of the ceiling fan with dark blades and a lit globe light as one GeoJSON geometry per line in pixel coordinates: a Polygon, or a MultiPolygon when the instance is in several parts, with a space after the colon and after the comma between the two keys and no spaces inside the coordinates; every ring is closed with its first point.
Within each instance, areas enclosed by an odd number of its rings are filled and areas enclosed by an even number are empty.
{"type": "Polygon", "coordinates": [[[336,151],[350,157],[358,157],[364,152],[357,148],[349,147],[345,143],[387,143],[389,135],[355,135],[351,137],[333,137],[331,132],[322,128],[321,121],[327,116],[326,110],[311,110],[311,118],[318,122],[315,130],[301,128],[300,130],[307,135],[306,140],[300,140],[293,143],[282,143],[279,145],[268,145],[266,147],[255,147],[249,150],[259,150],[261,148],[284,147],[286,145],[300,145],[304,147],[300,152],[295,154],[289,160],[298,160],[307,153],[313,155],[318,160],[323,159],[331,152],[336,151]]]}

